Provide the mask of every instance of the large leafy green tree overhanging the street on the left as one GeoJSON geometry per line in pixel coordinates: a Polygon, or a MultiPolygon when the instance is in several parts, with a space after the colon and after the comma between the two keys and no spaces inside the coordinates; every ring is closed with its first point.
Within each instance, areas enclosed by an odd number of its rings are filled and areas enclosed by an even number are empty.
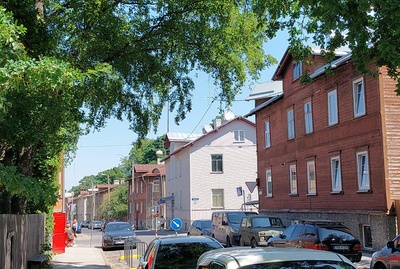
{"type": "Polygon", "coordinates": [[[127,119],[143,138],[169,103],[179,122],[191,110],[193,72],[210,73],[229,105],[273,62],[246,3],[2,1],[1,213],[53,203],[60,156],[107,119],[127,119]],[[19,190],[21,180],[32,188],[19,190]]]}

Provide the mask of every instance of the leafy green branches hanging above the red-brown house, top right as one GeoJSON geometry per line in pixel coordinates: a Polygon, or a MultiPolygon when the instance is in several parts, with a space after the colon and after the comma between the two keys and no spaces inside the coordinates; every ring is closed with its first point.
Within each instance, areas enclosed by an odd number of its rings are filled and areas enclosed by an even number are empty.
{"type": "Polygon", "coordinates": [[[312,45],[326,49],[329,59],[333,59],[336,48],[348,46],[360,72],[376,76],[376,70],[370,69],[371,63],[387,66],[388,74],[398,82],[396,91],[400,94],[400,27],[394,23],[400,14],[397,1],[259,0],[252,3],[256,5],[254,10],[261,24],[269,25],[266,30],[269,38],[278,29],[288,31],[290,50],[296,59],[305,59],[312,45]]]}

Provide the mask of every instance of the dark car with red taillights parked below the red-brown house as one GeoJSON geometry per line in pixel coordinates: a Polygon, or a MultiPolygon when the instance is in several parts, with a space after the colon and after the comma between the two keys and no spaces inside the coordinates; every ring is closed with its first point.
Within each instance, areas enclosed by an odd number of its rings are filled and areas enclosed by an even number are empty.
{"type": "Polygon", "coordinates": [[[267,245],[329,250],[343,254],[352,262],[359,262],[362,257],[360,240],[349,228],[335,221],[300,221],[270,238],[267,245]]]}

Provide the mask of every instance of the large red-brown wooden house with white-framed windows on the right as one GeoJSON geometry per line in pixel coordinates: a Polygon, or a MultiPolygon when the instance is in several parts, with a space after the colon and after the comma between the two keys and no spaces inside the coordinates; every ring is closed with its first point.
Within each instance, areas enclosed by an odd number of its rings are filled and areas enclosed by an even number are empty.
{"type": "Polygon", "coordinates": [[[400,97],[385,67],[363,75],[350,52],[336,56],[328,63],[315,50],[308,66],[286,51],[273,81],[252,98],[246,116],[256,118],[259,211],[286,225],[341,221],[376,250],[396,235],[400,97]],[[311,83],[300,83],[305,71],[311,83]]]}

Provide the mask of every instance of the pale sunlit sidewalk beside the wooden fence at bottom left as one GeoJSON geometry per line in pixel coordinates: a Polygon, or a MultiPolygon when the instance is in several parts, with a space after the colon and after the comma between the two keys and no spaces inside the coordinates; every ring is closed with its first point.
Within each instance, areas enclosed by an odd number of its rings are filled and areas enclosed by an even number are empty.
{"type": "Polygon", "coordinates": [[[101,248],[90,247],[65,248],[65,253],[57,254],[53,257],[51,265],[54,269],[110,269],[104,260],[101,248]]]}

